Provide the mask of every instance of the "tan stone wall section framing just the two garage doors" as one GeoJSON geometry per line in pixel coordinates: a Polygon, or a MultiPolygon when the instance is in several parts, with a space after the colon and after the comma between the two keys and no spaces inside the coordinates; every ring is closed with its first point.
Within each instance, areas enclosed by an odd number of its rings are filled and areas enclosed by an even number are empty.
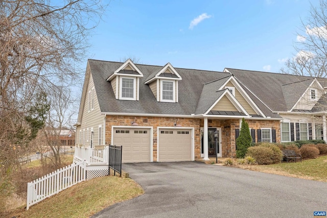
{"type": "MultiPolygon", "coordinates": [[[[157,161],[157,127],[174,127],[176,123],[176,118],[174,117],[146,117],[146,116],[136,116],[135,123],[139,127],[153,127],[153,161],[157,161]]],[[[116,116],[107,115],[106,116],[106,144],[111,143],[111,127],[112,126],[131,126],[134,120],[134,116],[116,116]]],[[[194,128],[194,158],[200,158],[200,119],[198,118],[179,118],[178,122],[182,127],[194,128]]],[[[203,123],[203,120],[202,120],[203,123]]]]}

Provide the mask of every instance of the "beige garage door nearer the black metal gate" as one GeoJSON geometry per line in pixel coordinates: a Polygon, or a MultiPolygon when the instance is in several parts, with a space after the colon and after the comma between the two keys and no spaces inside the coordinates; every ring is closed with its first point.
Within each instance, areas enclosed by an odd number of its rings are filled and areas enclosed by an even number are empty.
{"type": "Polygon", "coordinates": [[[150,162],[150,129],[113,128],[113,144],[123,146],[123,163],[150,162]]]}

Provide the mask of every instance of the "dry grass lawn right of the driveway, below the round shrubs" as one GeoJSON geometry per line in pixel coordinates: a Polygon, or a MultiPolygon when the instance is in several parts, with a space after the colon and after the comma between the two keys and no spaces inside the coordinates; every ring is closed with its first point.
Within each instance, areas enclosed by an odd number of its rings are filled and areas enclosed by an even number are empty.
{"type": "Polygon", "coordinates": [[[327,156],[302,160],[302,162],[296,163],[283,162],[271,165],[252,165],[251,168],[238,165],[238,167],[251,169],[252,171],[327,182],[327,156]]]}

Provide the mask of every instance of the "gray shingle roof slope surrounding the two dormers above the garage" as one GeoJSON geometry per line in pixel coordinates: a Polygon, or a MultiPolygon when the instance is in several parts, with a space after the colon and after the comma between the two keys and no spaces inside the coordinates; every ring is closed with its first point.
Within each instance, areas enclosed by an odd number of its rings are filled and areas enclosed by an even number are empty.
{"type": "Polygon", "coordinates": [[[178,103],[157,102],[150,87],[144,82],[153,72],[159,72],[162,66],[135,64],[144,74],[143,78],[139,78],[139,101],[123,101],[115,99],[111,84],[106,81],[123,63],[99,60],[88,62],[101,112],[191,115],[196,111],[203,85],[229,76],[225,72],[175,68],[182,78],[178,81],[178,103]]]}

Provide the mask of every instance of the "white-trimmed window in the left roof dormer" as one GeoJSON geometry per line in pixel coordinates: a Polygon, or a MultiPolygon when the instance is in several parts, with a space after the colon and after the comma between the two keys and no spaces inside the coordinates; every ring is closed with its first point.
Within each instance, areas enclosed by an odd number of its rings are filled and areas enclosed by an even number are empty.
{"type": "Polygon", "coordinates": [[[136,100],[136,79],[131,77],[121,77],[120,99],[136,100]]]}

